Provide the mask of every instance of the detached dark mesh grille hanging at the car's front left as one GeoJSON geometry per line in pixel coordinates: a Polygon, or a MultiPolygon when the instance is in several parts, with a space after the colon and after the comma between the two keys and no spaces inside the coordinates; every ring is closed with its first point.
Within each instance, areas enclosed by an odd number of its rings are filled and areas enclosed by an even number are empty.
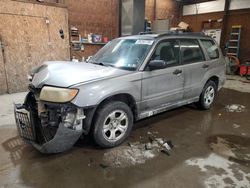
{"type": "Polygon", "coordinates": [[[30,123],[28,112],[15,110],[15,117],[20,136],[26,140],[35,141],[35,130],[30,123]]]}

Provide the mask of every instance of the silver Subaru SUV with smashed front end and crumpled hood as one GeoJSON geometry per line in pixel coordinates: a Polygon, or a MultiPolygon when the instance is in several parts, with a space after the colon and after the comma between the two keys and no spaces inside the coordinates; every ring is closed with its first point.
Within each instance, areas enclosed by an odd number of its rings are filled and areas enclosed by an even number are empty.
{"type": "Polygon", "coordinates": [[[225,82],[225,60],[199,33],[115,39],[88,63],[45,62],[15,105],[20,135],[57,153],[91,133],[101,147],[121,144],[135,121],[182,105],[209,109],[225,82]]]}

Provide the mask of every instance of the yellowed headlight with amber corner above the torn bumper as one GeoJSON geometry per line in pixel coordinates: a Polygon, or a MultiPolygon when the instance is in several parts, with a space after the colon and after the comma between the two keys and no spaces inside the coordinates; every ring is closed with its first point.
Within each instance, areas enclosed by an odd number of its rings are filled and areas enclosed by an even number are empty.
{"type": "Polygon", "coordinates": [[[78,89],[44,86],[40,93],[40,100],[65,103],[73,100],[77,93],[78,89]]]}

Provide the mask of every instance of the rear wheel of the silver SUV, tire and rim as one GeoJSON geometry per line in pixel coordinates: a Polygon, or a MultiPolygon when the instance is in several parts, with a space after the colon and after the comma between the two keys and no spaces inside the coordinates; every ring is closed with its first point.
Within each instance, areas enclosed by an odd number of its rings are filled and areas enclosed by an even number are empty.
{"type": "Polygon", "coordinates": [[[216,84],[214,83],[214,81],[209,80],[202,90],[199,101],[196,103],[198,108],[200,108],[201,110],[210,109],[214,103],[216,91],[216,84]]]}

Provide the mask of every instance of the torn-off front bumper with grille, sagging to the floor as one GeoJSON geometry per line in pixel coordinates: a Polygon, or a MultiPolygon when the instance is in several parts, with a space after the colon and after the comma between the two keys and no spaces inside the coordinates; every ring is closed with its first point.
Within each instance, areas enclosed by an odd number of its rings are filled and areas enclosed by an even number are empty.
{"type": "Polygon", "coordinates": [[[15,104],[14,112],[20,136],[41,153],[60,153],[67,151],[73,147],[83,133],[82,130],[68,128],[63,122],[60,122],[54,137],[47,142],[41,142],[41,139],[39,139],[40,119],[38,116],[20,104],[15,104]]]}

